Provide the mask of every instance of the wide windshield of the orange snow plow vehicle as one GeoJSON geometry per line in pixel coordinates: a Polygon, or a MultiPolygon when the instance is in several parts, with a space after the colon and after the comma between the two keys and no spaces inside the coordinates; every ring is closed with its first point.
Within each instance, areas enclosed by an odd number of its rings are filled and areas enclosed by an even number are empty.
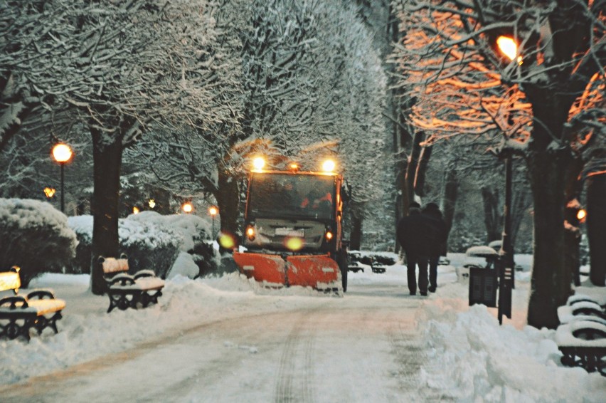
{"type": "Polygon", "coordinates": [[[255,217],[332,219],[334,177],[254,173],[248,184],[248,213],[255,217]]]}

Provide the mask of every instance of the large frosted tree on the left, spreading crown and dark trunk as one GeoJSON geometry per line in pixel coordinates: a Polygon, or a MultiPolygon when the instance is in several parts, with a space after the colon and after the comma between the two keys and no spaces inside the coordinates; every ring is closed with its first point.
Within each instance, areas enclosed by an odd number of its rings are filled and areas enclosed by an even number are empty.
{"type": "MultiPolygon", "coordinates": [[[[206,128],[232,118],[209,88],[216,33],[207,1],[9,1],[0,11],[11,93],[71,110],[90,131],[93,261],[115,256],[124,147],[153,125],[206,128]]],[[[94,293],[103,284],[92,276],[94,293]]]]}

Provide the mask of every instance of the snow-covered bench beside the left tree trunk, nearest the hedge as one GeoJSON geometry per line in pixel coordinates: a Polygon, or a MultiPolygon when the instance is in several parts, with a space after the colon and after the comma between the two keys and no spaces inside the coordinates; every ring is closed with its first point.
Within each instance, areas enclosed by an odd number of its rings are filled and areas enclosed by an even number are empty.
{"type": "Polygon", "coordinates": [[[164,280],[156,277],[152,270],[141,270],[131,276],[127,273],[128,259],[125,255],[117,258],[99,258],[100,270],[103,278],[107,281],[107,295],[110,297],[110,308],[126,310],[128,308],[138,308],[141,305],[146,308],[148,305],[158,303],[158,298],[162,295],[164,280]]]}

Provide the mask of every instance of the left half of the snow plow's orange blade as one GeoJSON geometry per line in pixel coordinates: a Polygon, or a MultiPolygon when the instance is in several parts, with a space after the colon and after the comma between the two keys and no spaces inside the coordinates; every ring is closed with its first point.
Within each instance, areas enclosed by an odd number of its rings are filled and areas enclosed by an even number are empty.
{"type": "Polygon", "coordinates": [[[233,260],[238,265],[240,273],[248,278],[276,286],[286,284],[286,262],[278,255],[234,252],[233,260]]]}

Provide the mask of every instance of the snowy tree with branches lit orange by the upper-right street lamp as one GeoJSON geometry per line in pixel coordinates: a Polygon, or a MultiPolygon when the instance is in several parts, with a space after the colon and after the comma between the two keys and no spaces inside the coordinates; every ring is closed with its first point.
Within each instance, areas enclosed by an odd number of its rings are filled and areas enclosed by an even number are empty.
{"type": "Polygon", "coordinates": [[[603,131],[604,1],[396,1],[402,85],[428,141],[467,134],[521,153],[534,198],[528,323],[558,325],[570,294],[565,182],[603,131]],[[509,36],[511,57],[496,44],[509,36]]]}

